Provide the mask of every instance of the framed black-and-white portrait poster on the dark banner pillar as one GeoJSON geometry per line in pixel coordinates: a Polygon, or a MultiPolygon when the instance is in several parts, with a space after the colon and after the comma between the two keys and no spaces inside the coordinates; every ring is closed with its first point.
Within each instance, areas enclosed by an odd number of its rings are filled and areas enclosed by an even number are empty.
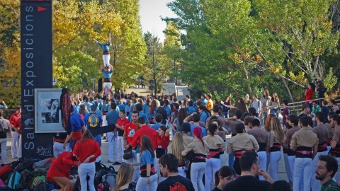
{"type": "Polygon", "coordinates": [[[65,132],[59,109],[62,89],[35,88],[35,133],[65,132]]]}

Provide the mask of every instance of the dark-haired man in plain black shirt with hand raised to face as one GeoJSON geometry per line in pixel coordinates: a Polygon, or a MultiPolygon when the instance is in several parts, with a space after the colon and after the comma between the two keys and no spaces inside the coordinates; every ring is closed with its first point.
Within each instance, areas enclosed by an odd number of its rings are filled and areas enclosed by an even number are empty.
{"type": "Polygon", "coordinates": [[[254,151],[245,151],[239,159],[241,176],[225,185],[223,191],[267,191],[274,180],[266,170],[259,169],[259,158],[254,151]],[[265,180],[258,180],[256,177],[262,175],[265,180]]]}

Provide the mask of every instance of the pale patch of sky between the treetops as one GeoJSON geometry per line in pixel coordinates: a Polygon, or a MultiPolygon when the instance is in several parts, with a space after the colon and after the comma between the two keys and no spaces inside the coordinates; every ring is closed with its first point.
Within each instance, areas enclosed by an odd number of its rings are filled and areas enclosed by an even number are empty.
{"type": "Polygon", "coordinates": [[[176,17],[175,13],[166,6],[172,0],[140,0],[140,22],[142,24],[143,33],[147,31],[153,35],[157,35],[161,42],[164,42],[163,30],[166,23],[161,20],[161,16],[165,18],[176,17]]]}

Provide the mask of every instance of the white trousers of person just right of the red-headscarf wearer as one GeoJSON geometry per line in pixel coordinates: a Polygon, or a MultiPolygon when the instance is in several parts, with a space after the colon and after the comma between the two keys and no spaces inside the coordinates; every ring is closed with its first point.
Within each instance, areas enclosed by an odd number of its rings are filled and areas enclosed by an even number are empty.
{"type": "Polygon", "coordinates": [[[220,158],[205,159],[205,191],[210,191],[215,185],[215,172],[220,170],[220,158]]]}

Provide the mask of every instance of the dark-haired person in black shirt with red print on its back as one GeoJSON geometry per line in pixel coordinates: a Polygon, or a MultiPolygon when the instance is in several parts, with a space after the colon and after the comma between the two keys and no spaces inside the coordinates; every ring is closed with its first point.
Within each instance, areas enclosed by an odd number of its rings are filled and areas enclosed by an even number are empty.
{"type": "Polygon", "coordinates": [[[166,180],[159,183],[157,191],[194,191],[193,183],[188,178],[179,175],[177,165],[179,160],[174,154],[164,154],[159,158],[159,167],[166,180]]]}

